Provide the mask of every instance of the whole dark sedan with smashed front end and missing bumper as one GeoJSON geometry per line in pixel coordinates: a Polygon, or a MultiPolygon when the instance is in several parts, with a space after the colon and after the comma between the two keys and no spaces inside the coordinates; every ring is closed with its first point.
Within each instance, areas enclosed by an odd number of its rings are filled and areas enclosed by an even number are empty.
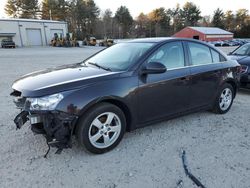
{"type": "Polygon", "coordinates": [[[50,146],[110,151],[126,131],[201,110],[229,111],[240,65],[192,39],[136,39],[81,63],[25,75],[12,85],[14,122],[50,146]]]}

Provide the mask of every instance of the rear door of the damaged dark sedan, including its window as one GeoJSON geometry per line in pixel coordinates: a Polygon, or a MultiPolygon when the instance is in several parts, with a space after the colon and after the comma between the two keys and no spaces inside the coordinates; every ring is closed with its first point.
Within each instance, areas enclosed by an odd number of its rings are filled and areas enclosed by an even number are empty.
{"type": "Polygon", "coordinates": [[[207,45],[186,42],[191,72],[191,108],[211,105],[219,87],[222,64],[218,52],[207,45]]]}

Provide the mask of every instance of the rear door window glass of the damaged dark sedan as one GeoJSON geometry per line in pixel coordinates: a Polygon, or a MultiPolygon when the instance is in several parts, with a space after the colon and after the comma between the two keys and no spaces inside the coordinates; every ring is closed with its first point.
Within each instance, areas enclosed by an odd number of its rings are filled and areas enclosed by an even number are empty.
{"type": "Polygon", "coordinates": [[[213,63],[209,47],[189,42],[188,43],[192,65],[205,65],[213,63]]]}

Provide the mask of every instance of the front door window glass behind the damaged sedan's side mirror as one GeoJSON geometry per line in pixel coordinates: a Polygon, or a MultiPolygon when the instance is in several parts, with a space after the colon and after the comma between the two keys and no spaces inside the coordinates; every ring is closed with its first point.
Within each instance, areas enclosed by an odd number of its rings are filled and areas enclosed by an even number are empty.
{"type": "Polygon", "coordinates": [[[181,42],[170,42],[157,49],[147,63],[162,63],[167,69],[184,67],[184,52],[181,42]]]}

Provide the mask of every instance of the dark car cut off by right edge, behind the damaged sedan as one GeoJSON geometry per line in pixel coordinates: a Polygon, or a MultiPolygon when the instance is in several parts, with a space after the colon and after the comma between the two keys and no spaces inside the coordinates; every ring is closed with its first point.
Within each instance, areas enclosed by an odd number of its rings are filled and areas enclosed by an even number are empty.
{"type": "Polygon", "coordinates": [[[237,60],[241,65],[241,87],[249,88],[250,84],[250,43],[246,43],[228,54],[229,58],[237,60]]]}

